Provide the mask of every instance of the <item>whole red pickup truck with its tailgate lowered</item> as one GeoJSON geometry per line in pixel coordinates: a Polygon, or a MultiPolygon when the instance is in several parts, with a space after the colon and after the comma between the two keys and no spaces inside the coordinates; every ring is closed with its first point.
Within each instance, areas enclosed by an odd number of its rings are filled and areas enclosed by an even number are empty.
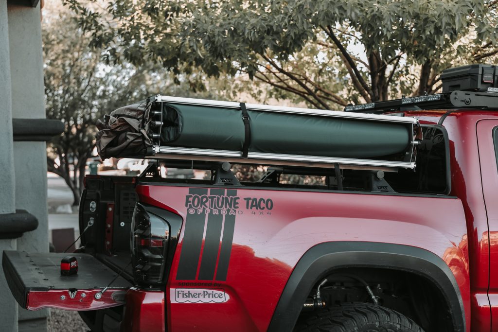
{"type": "Polygon", "coordinates": [[[415,171],[87,176],[78,273],[5,251],[10,290],[92,331],[498,331],[498,95],[448,97],[368,110],[418,119],[415,171]]]}

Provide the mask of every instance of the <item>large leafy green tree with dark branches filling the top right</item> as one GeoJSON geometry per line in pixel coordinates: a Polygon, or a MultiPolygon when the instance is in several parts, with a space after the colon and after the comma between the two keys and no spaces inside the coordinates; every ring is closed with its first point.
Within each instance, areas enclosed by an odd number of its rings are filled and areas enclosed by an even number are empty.
{"type": "Polygon", "coordinates": [[[64,2],[109,61],[247,75],[322,109],[434,93],[443,69],[498,53],[494,0],[64,2]]]}

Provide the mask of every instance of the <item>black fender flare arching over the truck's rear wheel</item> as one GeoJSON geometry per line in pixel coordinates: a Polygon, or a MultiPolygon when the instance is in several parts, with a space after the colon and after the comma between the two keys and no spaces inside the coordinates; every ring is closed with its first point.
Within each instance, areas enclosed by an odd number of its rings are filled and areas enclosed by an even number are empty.
{"type": "Polygon", "coordinates": [[[466,331],[460,289],[441,257],[418,247],[361,241],[324,242],[306,251],[283,289],[268,331],[292,331],[313,286],[334,269],[345,267],[395,269],[426,278],[443,294],[453,313],[454,331],[466,331]]]}

